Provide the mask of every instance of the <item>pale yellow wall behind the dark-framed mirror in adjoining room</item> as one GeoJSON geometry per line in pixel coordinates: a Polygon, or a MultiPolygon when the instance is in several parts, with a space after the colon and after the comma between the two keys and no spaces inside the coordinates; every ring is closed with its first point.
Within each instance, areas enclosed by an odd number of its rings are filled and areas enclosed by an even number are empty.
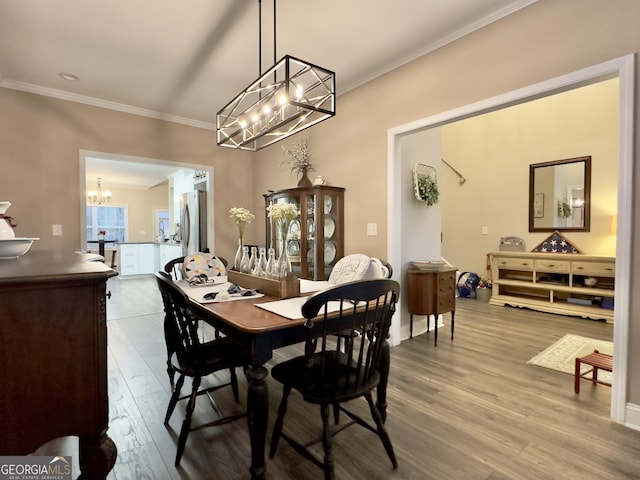
{"type": "MultiPolygon", "coordinates": [[[[486,274],[486,253],[500,238],[523,238],[532,250],[550,232],[529,233],[529,165],[591,156],[591,229],[564,232],[582,253],[615,256],[618,79],[442,127],[442,254],[460,270],[486,274]],[[489,234],[482,234],[482,227],[489,234]]],[[[547,217],[555,205],[547,196],[547,217]]]]}

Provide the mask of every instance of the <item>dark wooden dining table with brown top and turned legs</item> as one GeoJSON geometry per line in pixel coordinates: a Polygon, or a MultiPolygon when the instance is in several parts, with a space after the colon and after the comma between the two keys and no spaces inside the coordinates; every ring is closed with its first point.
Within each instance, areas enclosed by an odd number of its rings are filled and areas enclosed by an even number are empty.
{"type": "MultiPolygon", "coordinates": [[[[324,282],[319,283],[323,284],[324,282]]],[[[272,358],[274,350],[305,341],[308,329],[305,327],[306,320],[302,317],[299,306],[311,294],[309,290],[313,290],[313,283],[306,285],[306,287],[301,287],[303,293],[300,297],[291,299],[281,300],[262,295],[243,297],[235,299],[235,301],[209,303],[199,301],[199,296],[192,294],[192,289],[183,287],[188,294],[191,290],[191,294],[189,294],[190,306],[200,319],[225,336],[233,338],[248,351],[250,358],[245,375],[247,378],[247,419],[251,442],[249,471],[252,480],[267,478],[265,444],[269,419],[267,383],[269,370],[266,364],[272,358]],[[275,313],[277,311],[275,309],[272,311],[265,308],[276,304],[288,304],[289,312],[300,312],[299,318],[292,318],[296,316],[295,314],[287,313],[287,316],[283,316],[275,313]]],[[[331,319],[327,321],[331,321],[331,319]]],[[[336,326],[336,330],[339,330],[338,326],[336,326]]],[[[385,342],[383,348],[382,359],[378,366],[381,379],[377,388],[376,405],[384,420],[387,411],[386,391],[390,363],[388,342],[385,342]]]]}

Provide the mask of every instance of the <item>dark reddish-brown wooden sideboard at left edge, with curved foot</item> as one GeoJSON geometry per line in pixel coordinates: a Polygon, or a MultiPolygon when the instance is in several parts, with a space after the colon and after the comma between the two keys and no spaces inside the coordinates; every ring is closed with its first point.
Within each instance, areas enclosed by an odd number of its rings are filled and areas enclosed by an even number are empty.
{"type": "Polygon", "coordinates": [[[117,454],[107,436],[105,298],[116,272],[86,258],[0,260],[0,455],[77,436],[82,478],[104,479],[117,454]]]}

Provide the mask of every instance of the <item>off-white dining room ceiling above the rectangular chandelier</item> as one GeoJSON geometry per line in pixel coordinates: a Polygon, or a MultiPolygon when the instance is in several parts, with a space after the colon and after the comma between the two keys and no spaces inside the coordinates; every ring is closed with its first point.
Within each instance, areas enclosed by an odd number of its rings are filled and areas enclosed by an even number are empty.
{"type": "MultiPolygon", "coordinates": [[[[280,0],[275,56],[335,71],[339,96],[534,2],[280,0]]],[[[256,0],[3,0],[0,86],[214,129],[258,77],[258,11],[256,0]]],[[[273,0],[262,22],[264,71],[273,0]]]]}

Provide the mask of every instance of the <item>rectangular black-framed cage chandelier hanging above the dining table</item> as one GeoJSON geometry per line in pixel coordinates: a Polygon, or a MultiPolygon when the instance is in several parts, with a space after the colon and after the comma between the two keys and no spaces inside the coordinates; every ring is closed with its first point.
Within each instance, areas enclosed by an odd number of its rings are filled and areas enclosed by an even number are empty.
{"type": "MultiPolygon", "coordinates": [[[[258,0],[259,10],[262,1],[258,0]]],[[[262,68],[259,15],[258,74],[262,68]]],[[[258,151],[336,113],[335,73],[291,55],[275,62],[276,0],[273,1],[274,65],[245,88],[216,117],[218,145],[258,151]]]]}

